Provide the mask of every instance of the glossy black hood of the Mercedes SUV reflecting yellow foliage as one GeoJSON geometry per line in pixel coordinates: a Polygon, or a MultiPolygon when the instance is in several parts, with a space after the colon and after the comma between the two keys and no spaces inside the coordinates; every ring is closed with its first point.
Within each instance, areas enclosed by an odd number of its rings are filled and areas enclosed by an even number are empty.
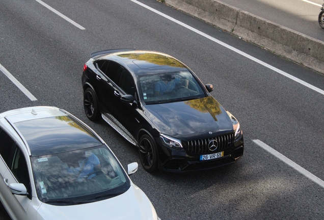
{"type": "Polygon", "coordinates": [[[212,137],[215,136],[215,132],[233,132],[230,117],[212,96],[145,105],[144,112],[161,133],[181,140],[190,140],[198,136],[199,139],[212,137]]]}

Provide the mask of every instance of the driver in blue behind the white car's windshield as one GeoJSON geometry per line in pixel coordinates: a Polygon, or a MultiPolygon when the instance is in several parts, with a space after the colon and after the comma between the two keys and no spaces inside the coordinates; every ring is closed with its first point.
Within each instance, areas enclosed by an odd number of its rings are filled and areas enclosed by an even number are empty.
{"type": "Polygon", "coordinates": [[[73,161],[68,162],[69,168],[67,172],[76,174],[77,182],[82,182],[84,178],[91,179],[96,176],[93,172],[101,170],[100,161],[94,153],[79,153],[78,155],[73,155],[73,158],[73,161]],[[91,175],[88,176],[89,174],[91,175]]]}

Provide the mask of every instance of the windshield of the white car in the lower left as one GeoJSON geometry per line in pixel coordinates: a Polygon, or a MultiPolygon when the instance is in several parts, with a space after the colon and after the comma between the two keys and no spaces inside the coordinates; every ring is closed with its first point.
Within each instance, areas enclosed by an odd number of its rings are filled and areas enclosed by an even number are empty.
{"type": "Polygon", "coordinates": [[[38,198],[55,205],[80,204],[124,193],[130,182],[105,146],[32,157],[38,198]]]}

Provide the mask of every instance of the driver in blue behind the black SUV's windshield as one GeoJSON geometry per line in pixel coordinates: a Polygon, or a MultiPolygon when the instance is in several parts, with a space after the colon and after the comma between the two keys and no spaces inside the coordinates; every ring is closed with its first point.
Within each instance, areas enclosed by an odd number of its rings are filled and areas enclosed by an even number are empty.
{"type": "Polygon", "coordinates": [[[172,77],[171,74],[162,75],[160,81],[157,81],[154,86],[155,96],[163,95],[166,92],[171,92],[178,85],[183,85],[185,88],[188,87],[187,79],[180,79],[178,77],[172,77]]]}

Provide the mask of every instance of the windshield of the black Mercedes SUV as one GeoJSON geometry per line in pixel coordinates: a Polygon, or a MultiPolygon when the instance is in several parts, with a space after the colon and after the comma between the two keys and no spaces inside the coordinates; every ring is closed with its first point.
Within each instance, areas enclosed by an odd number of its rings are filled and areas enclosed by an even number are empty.
{"type": "Polygon", "coordinates": [[[141,96],[146,104],[176,102],[206,97],[189,71],[140,77],[141,96]]]}

